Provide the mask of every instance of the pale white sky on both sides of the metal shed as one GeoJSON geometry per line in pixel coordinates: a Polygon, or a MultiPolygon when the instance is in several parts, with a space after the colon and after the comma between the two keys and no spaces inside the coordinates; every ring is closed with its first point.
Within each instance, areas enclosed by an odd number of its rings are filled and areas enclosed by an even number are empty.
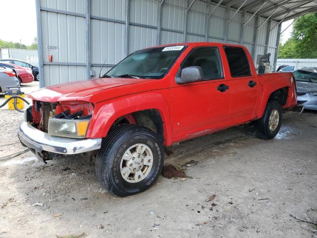
{"type": "MultiPolygon", "coordinates": [[[[35,0],[0,0],[0,22],[8,23],[0,31],[0,39],[31,45],[37,36],[35,0]],[[12,11],[12,6],[14,11],[12,11]],[[12,14],[14,12],[14,14],[12,14]],[[8,20],[9,19],[9,20],[8,20]]],[[[292,20],[282,23],[282,31],[292,20]]],[[[281,36],[282,44],[290,37],[293,27],[290,26],[281,36]]]]}

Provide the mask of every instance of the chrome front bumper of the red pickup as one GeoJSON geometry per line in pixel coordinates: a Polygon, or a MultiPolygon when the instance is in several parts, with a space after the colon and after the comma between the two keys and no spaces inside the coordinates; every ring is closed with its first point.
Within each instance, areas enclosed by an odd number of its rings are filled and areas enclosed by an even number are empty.
{"type": "Polygon", "coordinates": [[[101,138],[72,139],[49,135],[25,121],[19,127],[18,137],[22,145],[29,147],[36,157],[44,163],[43,151],[64,155],[80,154],[100,149],[102,142],[101,138]]]}

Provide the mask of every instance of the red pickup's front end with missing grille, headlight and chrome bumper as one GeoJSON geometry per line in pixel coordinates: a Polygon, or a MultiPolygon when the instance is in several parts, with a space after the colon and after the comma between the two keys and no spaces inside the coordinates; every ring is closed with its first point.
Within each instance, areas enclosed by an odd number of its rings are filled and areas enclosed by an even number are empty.
{"type": "Polygon", "coordinates": [[[50,152],[79,154],[97,150],[101,138],[86,138],[93,113],[94,105],[85,101],[33,100],[33,105],[25,110],[25,121],[20,125],[18,136],[43,162],[51,159],[50,152]]]}

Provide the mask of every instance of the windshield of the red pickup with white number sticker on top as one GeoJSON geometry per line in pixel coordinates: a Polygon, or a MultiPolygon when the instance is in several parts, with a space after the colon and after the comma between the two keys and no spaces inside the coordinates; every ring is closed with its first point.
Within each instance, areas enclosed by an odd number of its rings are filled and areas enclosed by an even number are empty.
{"type": "Polygon", "coordinates": [[[169,46],[136,51],[115,65],[103,77],[162,78],[184,49],[185,46],[169,46]]]}

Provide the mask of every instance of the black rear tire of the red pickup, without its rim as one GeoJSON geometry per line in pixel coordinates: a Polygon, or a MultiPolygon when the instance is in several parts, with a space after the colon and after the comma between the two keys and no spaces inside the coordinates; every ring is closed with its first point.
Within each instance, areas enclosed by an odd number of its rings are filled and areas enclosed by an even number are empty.
{"type": "Polygon", "coordinates": [[[276,100],[268,101],[264,109],[263,117],[255,121],[255,128],[257,129],[258,137],[262,139],[273,139],[277,135],[279,129],[281,128],[282,117],[283,112],[279,102],[276,100]],[[279,120],[276,128],[274,130],[270,130],[269,118],[272,111],[274,110],[278,111],[279,120]]]}

